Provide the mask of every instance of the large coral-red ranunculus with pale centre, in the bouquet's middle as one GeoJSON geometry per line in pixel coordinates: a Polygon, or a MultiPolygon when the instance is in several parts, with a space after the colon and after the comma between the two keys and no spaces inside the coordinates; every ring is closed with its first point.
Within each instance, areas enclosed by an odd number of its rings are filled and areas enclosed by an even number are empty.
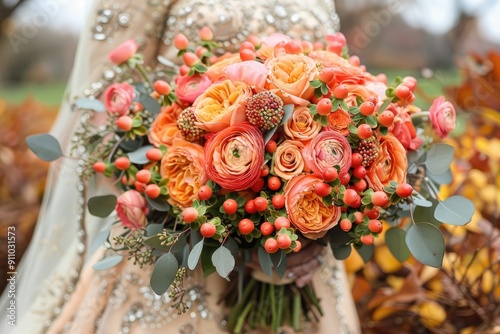
{"type": "Polygon", "coordinates": [[[222,188],[248,189],[264,163],[262,132],[248,122],[230,126],[208,139],[205,160],[208,177],[222,188]]]}

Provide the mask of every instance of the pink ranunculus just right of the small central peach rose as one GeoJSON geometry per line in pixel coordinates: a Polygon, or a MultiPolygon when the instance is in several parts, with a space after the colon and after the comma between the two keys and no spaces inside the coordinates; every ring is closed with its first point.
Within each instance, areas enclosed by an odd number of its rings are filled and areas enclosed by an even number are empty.
{"type": "Polygon", "coordinates": [[[314,137],[302,150],[306,166],[321,177],[323,170],[339,165],[340,175],[349,171],[352,162],[351,145],[335,131],[323,131],[314,137]]]}

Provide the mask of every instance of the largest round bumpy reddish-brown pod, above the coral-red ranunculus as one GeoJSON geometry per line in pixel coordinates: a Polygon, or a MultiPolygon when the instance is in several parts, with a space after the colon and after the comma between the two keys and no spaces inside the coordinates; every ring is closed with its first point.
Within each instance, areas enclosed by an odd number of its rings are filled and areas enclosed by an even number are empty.
{"type": "Polygon", "coordinates": [[[283,100],[271,91],[263,91],[247,99],[245,112],[251,124],[263,131],[280,124],[285,112],[283,100]]]}

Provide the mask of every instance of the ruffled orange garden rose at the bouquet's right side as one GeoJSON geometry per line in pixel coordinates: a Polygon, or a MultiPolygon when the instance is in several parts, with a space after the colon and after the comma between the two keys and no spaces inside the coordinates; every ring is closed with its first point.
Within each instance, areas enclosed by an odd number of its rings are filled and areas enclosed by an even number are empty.
{"type": "Polygon", "coordinates": [[[406,150],[391,133],[379,139],[378,156],[368,168],[367,178],[375,190],[382,190],[390,181],[403,183],[406,181],[408,159],[406,150]]]}

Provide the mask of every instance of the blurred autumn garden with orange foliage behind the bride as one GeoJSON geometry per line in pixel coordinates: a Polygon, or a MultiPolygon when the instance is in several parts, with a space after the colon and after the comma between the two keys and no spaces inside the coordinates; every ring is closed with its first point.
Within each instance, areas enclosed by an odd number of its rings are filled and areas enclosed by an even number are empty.
{"type": "MultiPolygon", "coordinates": [[[[90,2],[0,0],[0,266],[7,226],[17,226],[17,263],[31,237],[47,164],[24,138],[57,114],[90,2]]],[[[368,265],[356,254],[346,261],[363,332],[500,333],[500,1],[336,6],[351,54],[370,72],[415,76],[423,108],[439,95],[457,106],[454,180],[441,195],[460,193],[477,208],[465,228],[443,228],[442,269],[401,264],[383,244],[368,265]]]]}

